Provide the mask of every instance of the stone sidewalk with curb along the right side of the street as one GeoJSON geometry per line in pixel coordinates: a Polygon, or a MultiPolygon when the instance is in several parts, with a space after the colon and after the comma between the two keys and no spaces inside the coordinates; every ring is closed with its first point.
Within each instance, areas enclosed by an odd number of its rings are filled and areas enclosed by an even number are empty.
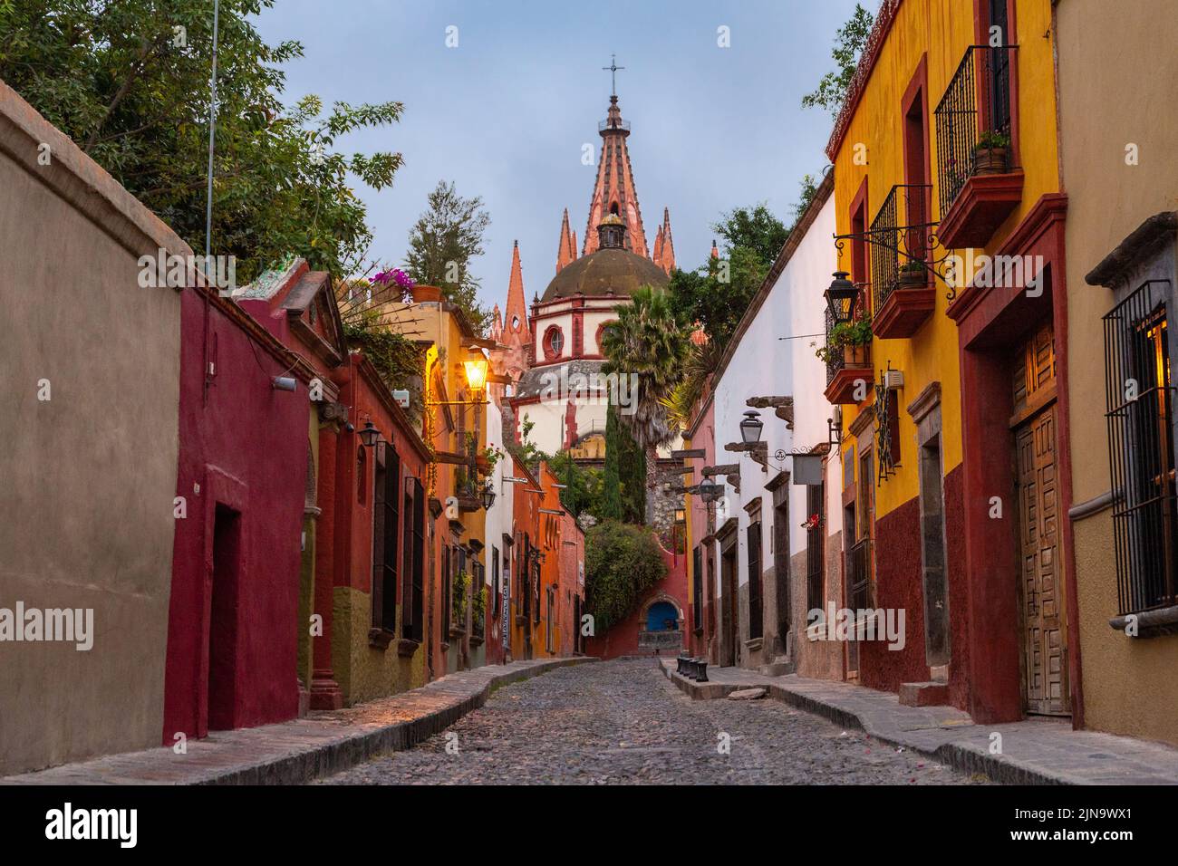
{"type": "Polygon", "coordinates": [[[768,696],[858,728],[892,746],[926,754],[967,773],[985,773],[1007,785],[1178,785],[1178,749],[1127,736],[1072,731],[1057,719],[1006,725],[974,725],[952,707],[904,707],[896,695],[849,682],[809,680],[796,674],[766,676],[741,668],[708,667],[697,683],[675,673],[675,660],[662,659],[663,673],[695,699],[717,699],[737,689],[761,687],[768,696]],[[1001,735],[1001,754],[991,754],[991,735],[1001,735]]]}

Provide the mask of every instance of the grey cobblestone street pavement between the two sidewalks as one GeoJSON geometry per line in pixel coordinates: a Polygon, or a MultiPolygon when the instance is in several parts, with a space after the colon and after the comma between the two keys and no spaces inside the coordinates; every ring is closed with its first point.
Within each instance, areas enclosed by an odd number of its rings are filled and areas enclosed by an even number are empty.
{"type": "Polygon", "coordinates": [[[653,660],[503,687],[406,752],[318,784],[986,784],[767,699],[693,701],[653,660]],[[720,751],[721,734],[729,753],[720,751]],[[449,751],[448,751],[449,747],[449,751]]]}

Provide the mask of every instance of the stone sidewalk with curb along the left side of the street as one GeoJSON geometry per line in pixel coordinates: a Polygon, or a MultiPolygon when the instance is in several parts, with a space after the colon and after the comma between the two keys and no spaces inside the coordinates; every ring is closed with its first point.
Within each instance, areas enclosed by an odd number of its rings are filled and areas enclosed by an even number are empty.
{"type": "Polygon", "coordinates": [[[499,686],[591,661],[489,665],[346,709],[190,739],[183,755],[164,746],[4,776],[0,785],[298,785],[410,748],[483,706],[499,686]]]}

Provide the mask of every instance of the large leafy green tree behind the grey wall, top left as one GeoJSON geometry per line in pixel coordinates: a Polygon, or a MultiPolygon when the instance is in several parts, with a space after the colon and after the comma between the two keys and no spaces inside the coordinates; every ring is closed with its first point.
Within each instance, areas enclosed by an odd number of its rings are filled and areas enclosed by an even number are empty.
{"type": "MultiPolygon", "coordinates": [[[[287,253],[336,276],[371,242],[352,176],[392,184],[399,153],[346,156],[335,143],[399,120],[401,103],[316,97],[284,107],[283,64],[251,19],[274,0],[221,0],[213,163],[213,254],[244,283],[287,253]]],[[[207,0],[4,0],[0,78],[172,226],[205,246],[212,5],[207,0]]]]}

